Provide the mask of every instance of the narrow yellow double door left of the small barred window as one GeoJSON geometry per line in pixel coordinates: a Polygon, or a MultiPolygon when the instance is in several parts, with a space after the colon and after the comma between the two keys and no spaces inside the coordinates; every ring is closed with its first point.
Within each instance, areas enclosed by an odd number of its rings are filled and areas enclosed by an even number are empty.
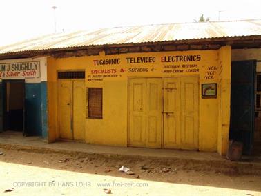
{"type": "Polygon", "coordinates": [[[59,134],[63,139],[84,140],[86,117],[85,81],[60,79],[59,134]]]}

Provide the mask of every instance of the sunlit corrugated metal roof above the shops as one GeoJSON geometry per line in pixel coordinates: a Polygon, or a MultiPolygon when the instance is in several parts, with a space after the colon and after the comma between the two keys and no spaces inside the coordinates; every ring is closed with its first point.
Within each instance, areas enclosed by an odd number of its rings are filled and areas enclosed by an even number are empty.
{"type": "Polygon", "coordinates": [[[82,30],[72,33],[58,33],[14,43],[9,46],[0,46],[0,54],[93,45],[146,43],[249,35],[261,35],[261,19],[128,26],[103,28],[100,30],[82,30]]]}

